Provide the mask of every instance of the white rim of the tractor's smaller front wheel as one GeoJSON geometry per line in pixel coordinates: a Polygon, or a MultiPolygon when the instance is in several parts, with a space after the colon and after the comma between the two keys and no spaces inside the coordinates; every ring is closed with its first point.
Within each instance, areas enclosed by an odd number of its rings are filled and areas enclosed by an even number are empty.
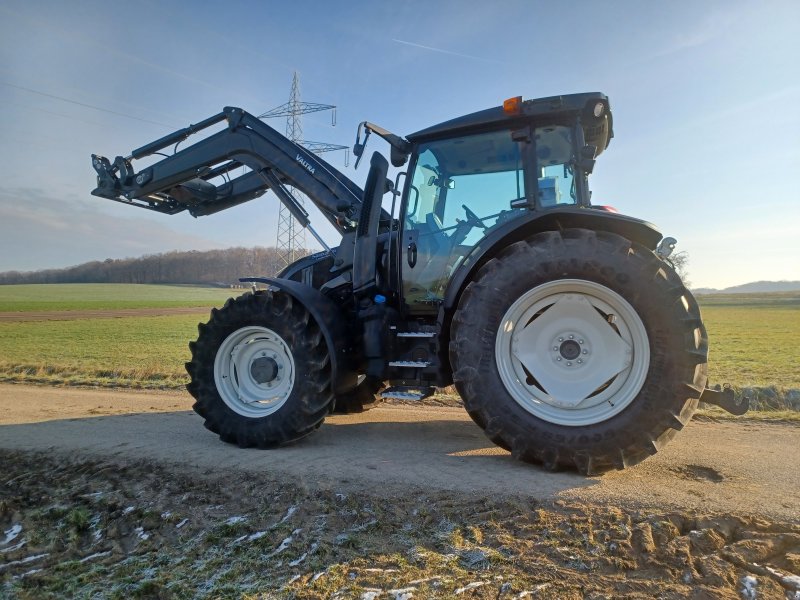
{"type": "Polygon", "coordinates": [[[266,327],[230,334],[214,358],[214,382],[222,401],[245,417],[265,417],[292,393],[295,367],[281,336],[266,327]]]}

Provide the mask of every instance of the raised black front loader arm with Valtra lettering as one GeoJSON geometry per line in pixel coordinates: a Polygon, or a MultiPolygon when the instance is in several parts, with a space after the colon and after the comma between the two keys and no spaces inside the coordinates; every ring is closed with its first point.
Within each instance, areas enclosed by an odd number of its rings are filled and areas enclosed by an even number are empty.
{"type": "MultiPolygon", "coordinates": [[[[295,187],[340,234],[355,229],[364,194],[325,160],[236,107],[137,148],[130,156],[118,156],[113,163],[92,155],[92,165],[97,172],[93,195],[165,214],[185,210],[195,217],[210,215],[273,189],[306,226],[308,213],[287,189],[295,187]],[[223,122],[224,129],[177,149],[184,140],[223,122]],[[163,154],[169,146],[175,151],[163,154]],[[134,161],[154,154],[164,158],[134,169],[134,161]]],[[[388,221],[388,214],[383,219],[388,221]]]]}

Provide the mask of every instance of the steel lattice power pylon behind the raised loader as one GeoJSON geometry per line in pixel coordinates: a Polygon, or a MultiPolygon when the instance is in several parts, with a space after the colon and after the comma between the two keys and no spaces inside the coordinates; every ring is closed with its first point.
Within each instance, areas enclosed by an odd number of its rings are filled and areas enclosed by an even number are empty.
{"type": "MultiPolygon", "coordinates": [[[[349,153],[347,146],[340,146],[338,144],[326,144],[324,142],[309,142],[303,140],[303,122],[301,115],[311,112],[320,112],[324,110],[331,111],[331,125],[336,125],[336,106],[332,104],[316,104],[313,102],[300,101],[300,78],[297,71],[294,72],[292,77],[292,92],[289,96],[289,102],[281,104],[268,110],[267,112],[258,115],[259,119],[270,119],[273,117],[286,117],[286,137],[300,144],[307,150],[320,154],[322,152],[331,152],[334,150],[345,151],[345,166],[349,160],[349,153]]],[[[297,199],[300,204],[305,204],[305,196],[295,188],[289,188],[291,194],[297,199]]],[[[278,256],[283,263],[283,266],[288,266],[295,260],[300,258],[300,253],[305,250],[306,235],[305,229],[299,227],[294,219],[294,216],[283,203],[280,205],[278,211],[278,240],[276,247],[278,256]]]]}

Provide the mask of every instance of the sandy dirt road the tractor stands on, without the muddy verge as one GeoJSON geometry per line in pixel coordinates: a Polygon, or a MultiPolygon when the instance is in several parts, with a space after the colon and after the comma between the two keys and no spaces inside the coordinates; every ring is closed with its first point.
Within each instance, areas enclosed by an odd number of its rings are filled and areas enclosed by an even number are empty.
{"type": "Polygon", "coordinates": [[[312,488],[385,496],[419,489],[790,521],[800,515],[796,425],[693,422],[644,463],[587,478],[513,460],[457,408],[386,406],[330,417],[298,444],[259,451],[221,443],[190,407],[183,393],[0,385],[0,449],[287,475],[312,488]]]}

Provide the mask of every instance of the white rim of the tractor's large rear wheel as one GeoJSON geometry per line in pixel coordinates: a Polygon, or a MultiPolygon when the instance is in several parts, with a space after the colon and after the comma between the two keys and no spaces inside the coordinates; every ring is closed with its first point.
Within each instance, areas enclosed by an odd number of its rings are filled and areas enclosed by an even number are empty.
{"type": "Polygon", "coordinates": [[[506,390],[526,411],[558,425],[592,425],[620,413],[644,385],[650,346],[642,320],[619,294],[561,279],[523,294],[495,343],[506,390]]]}

